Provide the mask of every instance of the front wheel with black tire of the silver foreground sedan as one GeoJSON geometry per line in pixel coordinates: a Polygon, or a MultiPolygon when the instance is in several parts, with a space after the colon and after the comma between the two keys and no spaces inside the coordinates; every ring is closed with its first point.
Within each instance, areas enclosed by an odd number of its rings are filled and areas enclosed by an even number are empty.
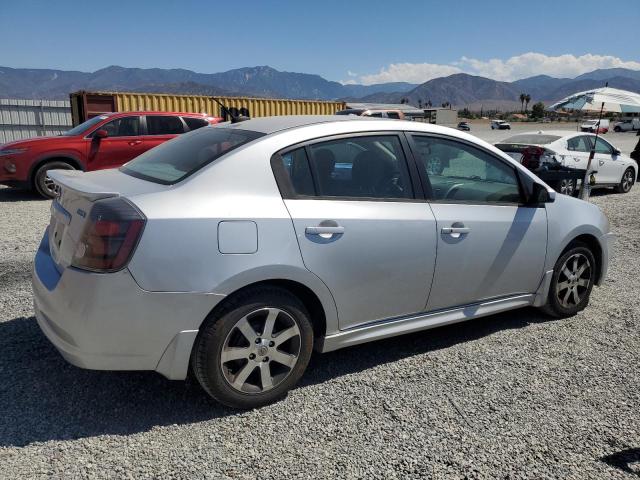
{"type": "Polygon", "coordinates": [[[581,242],[571,245],[553,268],[547,304],[542,310],[555,318],[572,317],[584,310],[589,304],[596,268],[595,257],[587,245],[581,242]]]}

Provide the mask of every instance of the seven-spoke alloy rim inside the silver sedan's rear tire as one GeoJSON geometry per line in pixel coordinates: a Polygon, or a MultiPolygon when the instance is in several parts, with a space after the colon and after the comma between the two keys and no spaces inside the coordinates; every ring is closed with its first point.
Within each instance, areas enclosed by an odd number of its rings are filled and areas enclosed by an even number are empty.
{"type": "Polygon", "coordinates": [[[242,317],[220,352],[224,378],[236,391],[259,394],[289,376],[300,356],[301,334],[294,318],[275,307],[242,317]]]}

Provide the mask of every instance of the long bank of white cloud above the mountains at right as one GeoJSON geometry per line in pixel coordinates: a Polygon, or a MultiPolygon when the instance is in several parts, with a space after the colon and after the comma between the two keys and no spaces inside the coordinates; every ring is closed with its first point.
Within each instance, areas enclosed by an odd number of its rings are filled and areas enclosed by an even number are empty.
{"type": "MultiPolygon", "coordinates": [[[[370,85],[386,82],[423,83],[437,77],[454,73],[470,73],[492,78],[494,80],[513,81],[534,75],[550,75],[552,77],[575,77],[582,73],[599,68],[630,68],[640,70],[640,62],[625,61],[611,55],[580,56],[571,54],[549,56],[542,53],[528,52],[506,60],[492,58],[479,60],[462,57],[451,64],[433,63],[392,63],[380,69],[378,73],[361,75],[360,83],[370,85]]],[[[349,76],[353,72],[349,72],[349,76]]],[[[353,80],[343,83],[354,83],[353,80]]]]}

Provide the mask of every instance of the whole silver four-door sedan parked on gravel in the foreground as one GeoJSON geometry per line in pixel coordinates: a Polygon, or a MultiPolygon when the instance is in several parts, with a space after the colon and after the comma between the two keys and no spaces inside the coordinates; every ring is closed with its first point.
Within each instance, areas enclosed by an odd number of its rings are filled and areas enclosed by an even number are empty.
{"type": "Polygon", "coordinates": [[[607,271],[595,205],[418,122],[258,118],[50,176],[33,273],[46,336],[83,368],[191,368],[233,407],[285,395],[314,347],[526,306],[574,315],[607,271]]]}

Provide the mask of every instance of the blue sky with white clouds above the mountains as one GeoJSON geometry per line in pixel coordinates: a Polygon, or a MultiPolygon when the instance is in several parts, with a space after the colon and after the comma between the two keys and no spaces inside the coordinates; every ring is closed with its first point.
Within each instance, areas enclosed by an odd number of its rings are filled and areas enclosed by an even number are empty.
{"type": "Polygon", "coordinates": [[[211,73],[270,65],[343,82],[640,69],[640,1],[0,1],[0,65],[211,73]]]}

